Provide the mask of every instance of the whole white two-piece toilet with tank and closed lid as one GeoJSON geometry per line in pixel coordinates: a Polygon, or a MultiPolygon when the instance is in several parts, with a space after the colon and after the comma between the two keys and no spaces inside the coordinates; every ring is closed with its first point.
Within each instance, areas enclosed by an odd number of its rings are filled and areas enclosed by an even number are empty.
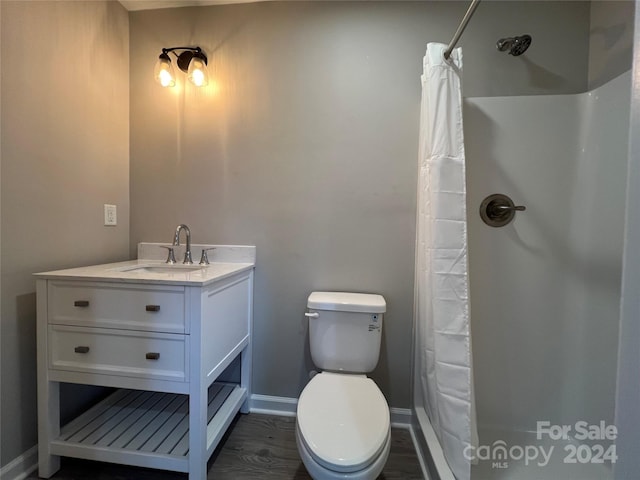
{"type": "Polygon", "coordinates": [[[372,480],[389,456],[389,406],[365,375],[378,363],[380,295],[313,292],[309,342],[315,375],[298,400],[296,443],[315,480],[372,480]]]}

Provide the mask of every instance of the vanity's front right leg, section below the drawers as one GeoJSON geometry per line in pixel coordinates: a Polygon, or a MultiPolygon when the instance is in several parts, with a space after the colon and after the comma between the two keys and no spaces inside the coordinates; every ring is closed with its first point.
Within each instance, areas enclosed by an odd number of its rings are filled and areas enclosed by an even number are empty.
{"type": "Polygon", "coordinates": [[[207,389],[189,395],[189,480],[207,478],[207,389]]]}

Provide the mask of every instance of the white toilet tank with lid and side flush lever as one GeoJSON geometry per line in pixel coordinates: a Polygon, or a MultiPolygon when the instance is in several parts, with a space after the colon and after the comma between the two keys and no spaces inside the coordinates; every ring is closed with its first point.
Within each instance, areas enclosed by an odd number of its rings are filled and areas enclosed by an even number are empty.
{"type": "Polygon", "coordinates": [[[378,364],[382,317],[381,295],[313,292],[307,300],[311,358],[322,370],[368,373],[378,364]]]}

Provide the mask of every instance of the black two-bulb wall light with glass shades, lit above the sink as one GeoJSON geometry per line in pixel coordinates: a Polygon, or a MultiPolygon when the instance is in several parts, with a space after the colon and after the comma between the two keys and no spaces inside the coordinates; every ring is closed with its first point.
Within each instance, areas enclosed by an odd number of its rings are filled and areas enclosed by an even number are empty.
{"type": "Polygon", "coordinates": [[[178,68],[187,74],[191,83],[196,87],[204,87],[209,83],[207,56],[200,47],[171,47],[163,48],[156,62],[154,76],[160,85],[173,87],[176,84],[176,76],[169,53],[175,55],[178,68]],[[182,52],[178,54],[176,50],[182,50],[182,52]]]}

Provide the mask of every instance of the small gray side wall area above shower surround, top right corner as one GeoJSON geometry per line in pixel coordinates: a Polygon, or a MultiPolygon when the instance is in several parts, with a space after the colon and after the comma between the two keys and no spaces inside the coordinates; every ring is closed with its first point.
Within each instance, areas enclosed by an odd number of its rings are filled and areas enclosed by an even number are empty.
{"type": "Polygon", "coordinates": [[[589,90],[631,68],[634,9],[632,0],[591,2],[589,90]]]}

